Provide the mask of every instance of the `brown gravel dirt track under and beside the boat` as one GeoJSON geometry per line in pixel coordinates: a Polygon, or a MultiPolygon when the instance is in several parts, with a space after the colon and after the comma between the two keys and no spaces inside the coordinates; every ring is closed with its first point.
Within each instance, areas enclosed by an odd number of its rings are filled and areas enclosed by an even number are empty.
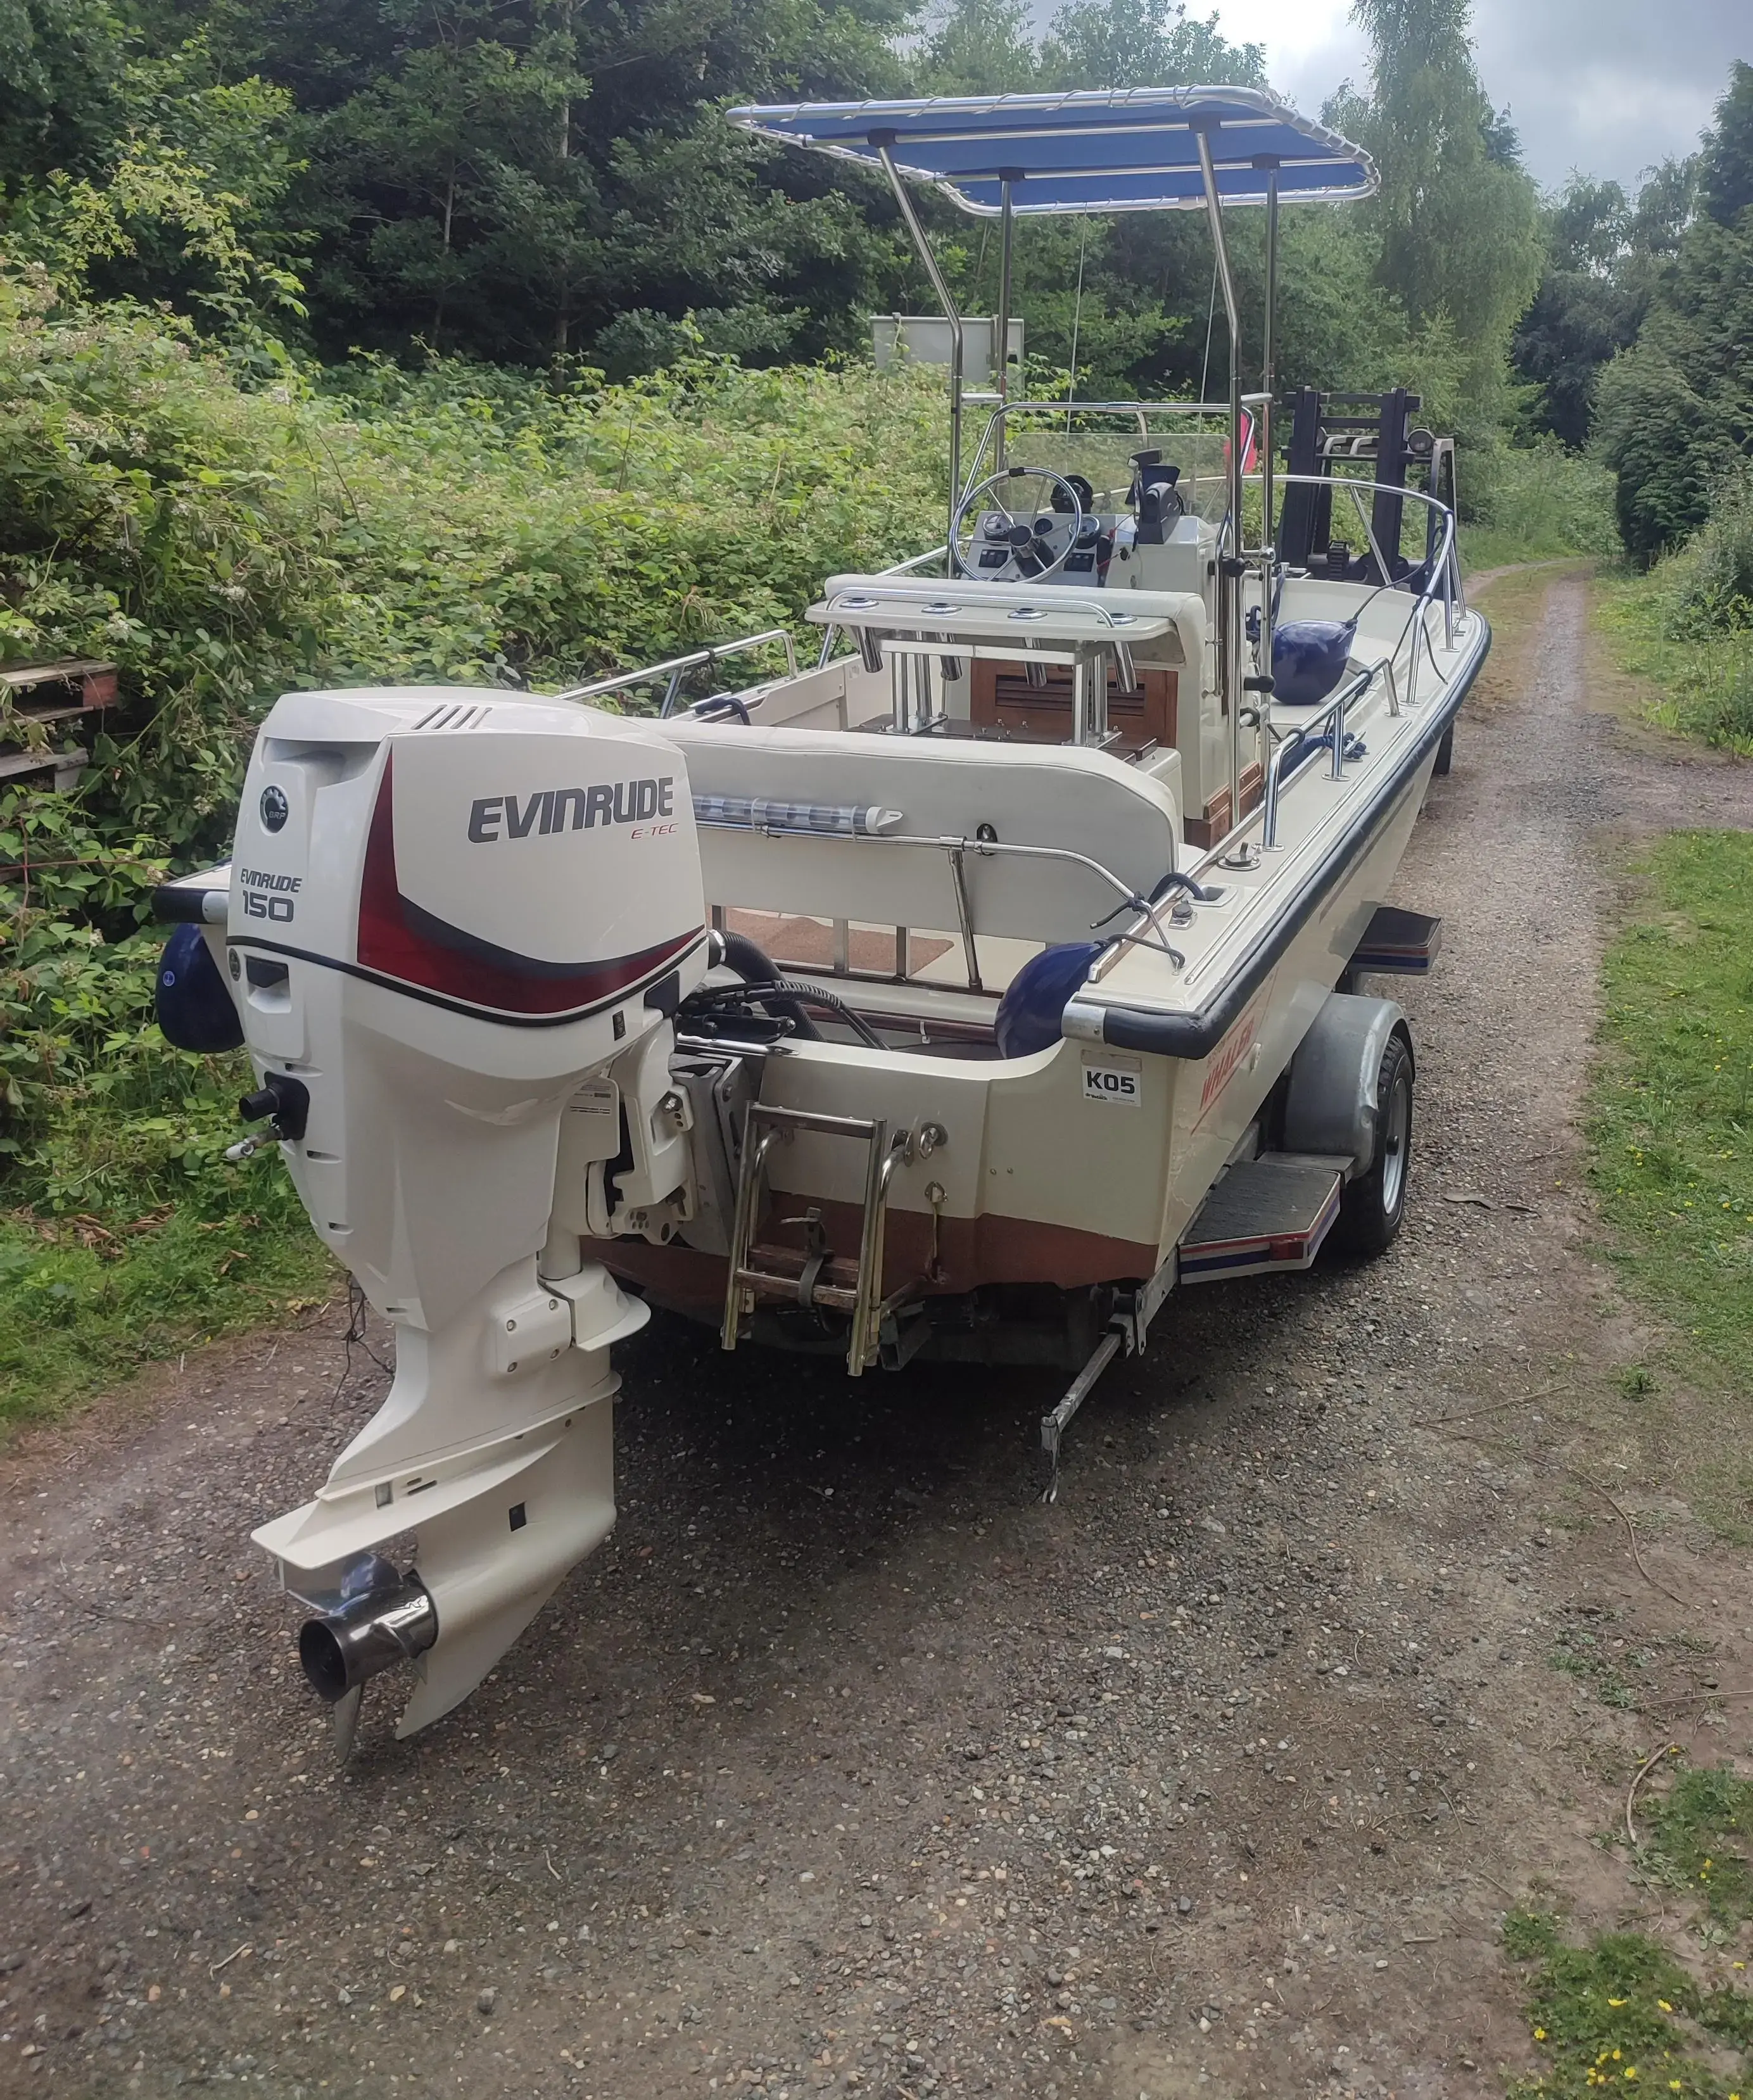
{"type": "MultiPolygon", "coordinates": [[[[0,1457],[0,2094],[1461,2100],[1533,2066],[1503,1909],[1631,1915],[1591,1838],[1646,1716],[1753,1651],[1747,1556],[1614,1399],[1644,1338],[1572,1134],[1602,834],[1747,823],[1753,788],[1587,716],[1583,584],[1545,590],[1400,884],[1444,914],[1407,1233],[1171,1302],[1056,1506],[1043,1378],[848,1386],[657,1325],[609,1550],[422,1739],[367,1697],[336,1774],[246,1539],[376,1405],[369,1365],[332,1401],[336,1321],[0,1457]],[[1686,1606],[1604,1493],[1665,1516],[1686,1606]],[[1648,1659],[1642,1716],[1549,1667],[1575,1625],[1648,1659]]],[[[1705,1749],[1745,1747],[1728,1712],[1705,1749]]]]}

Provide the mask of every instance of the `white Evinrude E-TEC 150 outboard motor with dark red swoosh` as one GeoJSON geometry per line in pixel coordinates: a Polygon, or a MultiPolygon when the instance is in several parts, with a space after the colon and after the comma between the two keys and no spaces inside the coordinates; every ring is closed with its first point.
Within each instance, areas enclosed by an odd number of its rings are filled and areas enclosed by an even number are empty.
{"type": "Polygon", "coordinates": [[[254,1533],[319,1613],[338,1735],[401,1659],[399,1732],[449,1712],[615,1520],[609,1348],[647,1308],[579,1235],[691,1216],[670,1014],[703,918],[651,724],[458,689],[292,693],[262,724],[225,926],[244,1107],[397,1336],[384,1405],[254,1533]],[[399,1575],[378,1550],[409,1531],[399,1575]]]}

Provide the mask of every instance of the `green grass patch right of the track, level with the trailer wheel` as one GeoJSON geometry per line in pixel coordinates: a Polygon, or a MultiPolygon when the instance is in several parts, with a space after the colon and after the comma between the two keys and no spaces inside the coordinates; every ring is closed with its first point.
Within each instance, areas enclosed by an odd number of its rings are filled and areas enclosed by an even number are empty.
{"type": "MultiPolygon", "coordinates": [[[[1701,1376],[1753,1390],[1753,836],[1671,832],[1602,966],[1589,1174],[1629,1289],[1701,1376]]],[[[1690,1367],[1688,1367],[1690,1369],[1690,1367]]],[[[1694,1502],[1753,1535],[1753,1451],[1715,1438],[1694,1502]]]]}

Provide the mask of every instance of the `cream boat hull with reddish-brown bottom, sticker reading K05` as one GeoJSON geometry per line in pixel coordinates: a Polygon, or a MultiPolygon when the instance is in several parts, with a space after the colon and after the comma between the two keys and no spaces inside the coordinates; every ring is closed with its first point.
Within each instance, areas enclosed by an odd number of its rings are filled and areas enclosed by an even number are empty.
{"type": "MultiPolygon", "coordinates": [[[[1071,1040],[1008,1060],[875,1054],[850,1044],[798,1044],[770,1058],[762,1082],[768,1105],[882,1117],[890,1132],[928,1119],[945,1134],[928,1159],[896,1174],[884,1294],[972,1304],[1025,1287],[1079,1298],[1155,1275],[1388,901],[1432,762],[1434,752],[1360,827],[1289,945],[1201,1058],[1071,1040]]],[[[768,1184],[768,1245],[802,1252],[812,1228],[804,1220],[815,1212],[815,1228],[831,1247],[857,1250],[859,1147],[798,1132],[770,1155],[768,1184]]],[[[680,1241],[613,1241],[600,1252],[655,1304],[712,1323],[722,1317],[722,1256],[680,1241]]],[[[1043,1312],[1048,1298],[1039,1300],[1043,1312]]],[[[947,1312],[945,1304],[934,1319],[938,1340],[953,1331],[941,1317],[947,1312]]],[[[754,1338],[844,1346],[812,1315],[758,1319],[754,1338]]],[[[957,1342],[949,1352],[976,1350],[957,1342]]],[[[1016,1350],[997,1340],[987,1354],[1016,1361],[1016,1350]]]]}

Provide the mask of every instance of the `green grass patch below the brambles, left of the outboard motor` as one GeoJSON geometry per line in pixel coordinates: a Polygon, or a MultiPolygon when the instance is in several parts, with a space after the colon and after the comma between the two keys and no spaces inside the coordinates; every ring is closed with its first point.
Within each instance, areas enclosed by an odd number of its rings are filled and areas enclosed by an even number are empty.
{"type": "Polygon", "coordinates": [[[254,1172],[252,1208],[216,1216],[193,1203],[0,1214],[0,1430],[338,1287],[281,1168],[254,1172]]]}

